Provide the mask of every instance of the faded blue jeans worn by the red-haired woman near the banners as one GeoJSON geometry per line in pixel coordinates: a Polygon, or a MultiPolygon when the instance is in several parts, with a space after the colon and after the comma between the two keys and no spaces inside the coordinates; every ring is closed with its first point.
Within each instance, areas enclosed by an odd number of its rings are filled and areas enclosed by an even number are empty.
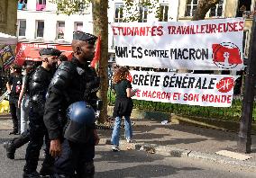
{"type": "MultiPolygon", "coordinates": [[[[111,138],[111,143],[115,146],[119,146],[121,122],[122,122],[122,118],[117,116],[114,121],[114,129],[113,129],[112,138],[111,138]]],[[[132,130],[132,124],[129,116],[124,116],[124,129],[125,129],[125,138],[132,138],[133,130],[132,130]]]]}

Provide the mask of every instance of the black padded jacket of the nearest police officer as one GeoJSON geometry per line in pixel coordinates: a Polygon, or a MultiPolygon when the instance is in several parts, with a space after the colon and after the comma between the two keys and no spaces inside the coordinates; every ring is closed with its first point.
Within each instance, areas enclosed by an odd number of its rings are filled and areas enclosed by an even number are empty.
{"type": "Polygon", "coordinates": [[[86,101],[95,105],[99,78],[92,67],[79,63],[77,58],[62,62],[53,76],[45,104],[44,123],[50,139],[62,138],[66,111],[71,103],[86,101]],[[59,115],[62,118],[59,118],[59,115]]]}

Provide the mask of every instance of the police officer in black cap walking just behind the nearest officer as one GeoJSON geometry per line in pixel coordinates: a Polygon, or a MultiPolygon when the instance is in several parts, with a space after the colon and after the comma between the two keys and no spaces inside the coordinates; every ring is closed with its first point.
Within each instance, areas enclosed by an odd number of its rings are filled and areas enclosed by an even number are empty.
{"type": "Polygon", "coordinates": [[[29,97],[31,107],[29,109],[29,128],[30,128],[30,142],[26,149],[26,164],[24,166],[24,178],[37,178],[40,174],[37,173],[36,168],[40,150],[45,137],[46,156],[42,167],[50,167],[54,163],[54,158],[50,156],[50,140],[48,138],[47,129],[43,123],[43,111],[50,79],[54,74],[54,67],[57,66],[57,60],[60,55],[58,49],[41,49],[40,56],[42,64],[37,67],[29,82],[29,97]]]}

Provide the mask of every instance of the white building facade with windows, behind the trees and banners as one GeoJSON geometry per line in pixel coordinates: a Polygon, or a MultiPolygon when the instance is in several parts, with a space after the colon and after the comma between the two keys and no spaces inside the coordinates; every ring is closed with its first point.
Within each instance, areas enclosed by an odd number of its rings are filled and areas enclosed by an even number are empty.
{"type": "MultiPolygon", "coordinates": [[[[256,0],[220,0],[207,14],[206,19],[245,17],[254,10],[256,0]],[[245,14],[245,16],[244,16],[245,14]]],[[[123,22],[123,0],[109,0],[109,53],[114,58],[114,38],[111,30],[112,22],[123,22]]],[[[169,22],[191,20],[198,0],[160,0],[160,16],[149,13],[147,7],[135,7],[139,12],[138,22],[169,22]]],[[[79,14],[65,15],[57,12],[57,5],[50,0],[19,0],[18,4],[18,30],[19,40],[34,42],[70,43],[73,31],[93,32],[91,6],[79,14]]],[[[248,56],[251,36],[252,18],[245,18],[243,53],[248,56]]]]}

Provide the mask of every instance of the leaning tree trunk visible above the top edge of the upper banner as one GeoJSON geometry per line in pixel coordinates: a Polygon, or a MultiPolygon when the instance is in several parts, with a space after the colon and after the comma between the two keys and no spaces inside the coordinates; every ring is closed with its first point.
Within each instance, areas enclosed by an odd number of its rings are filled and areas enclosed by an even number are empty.
{"type": "Polygon", "coordinates": [[[196,12],[193,15],[192,21],[204,20],[206,13],[218,4],[220,0],[199,0],[196,12]]]}

